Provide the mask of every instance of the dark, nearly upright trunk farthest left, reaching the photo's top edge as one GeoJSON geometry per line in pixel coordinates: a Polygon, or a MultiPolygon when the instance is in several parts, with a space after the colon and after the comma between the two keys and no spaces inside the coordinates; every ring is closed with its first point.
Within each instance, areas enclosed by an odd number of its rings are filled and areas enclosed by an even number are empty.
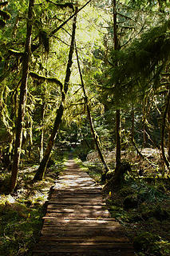
{"type": "Polygon", "coordinates": [[[22,63],[22,84],[20,87],[20,98],[18,106],[18,118],[16,122],[16,135],[15,135],[15,147],[14,147],[14,159],[12,166],[12,174],[10,178],[10,191],[14,190],[17,185],[18,166],[20,162],[21,149],[22,149],[22,130],[25,116],[26,97],[27,97],[27,82],[29,74],[29,62],[30,62],[30,46],[31,46],[31,34],[32,34],[32,18],[33,18],[34,0],[29,2],[28,21],[27,21],[27,33],[26,33],[26,46],[22,63]]]}

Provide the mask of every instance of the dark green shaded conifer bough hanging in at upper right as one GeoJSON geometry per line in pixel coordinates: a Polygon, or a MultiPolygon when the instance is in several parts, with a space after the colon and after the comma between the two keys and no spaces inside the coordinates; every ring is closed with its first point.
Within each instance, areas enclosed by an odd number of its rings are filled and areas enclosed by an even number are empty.
{"type": "Polygon", "coordinates": [[[109,94],[125,103],[144,95],[149,88],[160,86],[160,74],[170,57],[170,22],[154,27],[134,40],[125,50],[113,51],[113,67],[109,70],[109,94]],[[118,66],[114,63],[118,62],[118,66]],[[124,75],[121,75],[124,74],[124,75]]]}

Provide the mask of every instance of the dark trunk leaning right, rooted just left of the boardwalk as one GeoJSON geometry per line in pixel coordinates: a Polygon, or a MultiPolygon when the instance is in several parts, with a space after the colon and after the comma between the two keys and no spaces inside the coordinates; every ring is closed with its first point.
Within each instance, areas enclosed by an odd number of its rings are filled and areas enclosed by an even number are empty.
{"type": "MultiPolygon", "coordinates": [[[[77,9],[76,9],[77,13],[77,9]]],[[[49,142],[45,150],[44,157],[42,158],[42,162],[40,163],[40,166],[37,170],[37,173],[34,176],[34,181],[42,180],[45,175],[45,170],[47,163],[49,162],[49,156],[51,154],[51,150],[53,149],[53,143],[55,141],[57,131],[59,129],[59,126],[61,124],[61,118],[64,113],[64,105],[65,105],[65,97],[69,88],[69,78],[71,75],[71,66],[72,66],[72,58],[73,58],[73,49],[74,49],[74,40],[75,40],[75,32],[76,32],[76,21],[77,21],[77,15],[73,18],[73,32],[72,32],[72,38],[71,38],[71,45],[69,49],[69,60],[67,64],[66,74],[65,74],[65,84],[63,90],[61,90],[61,104],[59,108],[57,109],[56,119],[54,122],[52,133],[49,137],[49,142]]]]}

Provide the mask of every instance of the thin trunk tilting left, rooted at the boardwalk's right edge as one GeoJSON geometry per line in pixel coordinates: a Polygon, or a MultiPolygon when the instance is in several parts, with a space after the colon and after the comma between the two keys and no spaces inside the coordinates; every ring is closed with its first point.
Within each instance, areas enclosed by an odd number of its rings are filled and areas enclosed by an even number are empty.
{"type": "Polygon", "coordinates": [[[85,106],[87,108],[87,115],[88,115],[88,119],[89,119],[90,130],[93,135],[95,145],[97,147],[97,152],[99,154],[99,157],[101,158],[101,162],[103,163],[103,165],[105,167],[105,174],[107,174],[107,172],[109,171],[109,167],[107,166],[107,163],[105,162],[105,158],[101,152],[99,136],[97,135],[96,131],[94,130],[93,121],[92,121],[91,113],[89,110],[88,97],[85,92],[85,84],[84,84],[82,73],[81,73],[81,66],[80,66],[80,62],[79,62],[79,58],[78,58],[77,47],[75,46],[75,48],[76,48],[76,55],[77,55],[77,66],[78,66],[79,74],[81,77],[81,86],[82,86],[83,94],[85,97],[85,106]]]}

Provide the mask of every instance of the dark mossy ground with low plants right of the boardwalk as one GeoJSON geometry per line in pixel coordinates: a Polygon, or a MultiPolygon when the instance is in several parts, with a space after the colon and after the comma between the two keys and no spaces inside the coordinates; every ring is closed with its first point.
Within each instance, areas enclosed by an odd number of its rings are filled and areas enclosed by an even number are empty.
{"type": "MultiPolygon", "coordinates": [[[[142,162],[143,166],[147,164],[142,162]]],[[[102,166],[98,161],[81,162],[81,166],[100,182],[102,166]]],[[[158,178],[157,170],[154,173],[145,168],[144,172],[146,175],[140,177],[138,169],[132,170],[132,174],[125,175],[125,182],[119,189],[110,187],[105,194],[107,206],[111,216],[124,226],[136,255],[169,256],[170,182],[168,178],[158,178]]]]}

